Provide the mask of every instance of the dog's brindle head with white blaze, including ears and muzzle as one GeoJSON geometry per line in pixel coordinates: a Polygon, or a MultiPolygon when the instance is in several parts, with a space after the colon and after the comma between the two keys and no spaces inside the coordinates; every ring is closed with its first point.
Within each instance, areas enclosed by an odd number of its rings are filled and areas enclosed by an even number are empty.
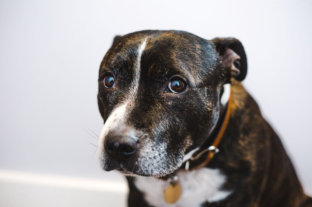
{"type": "Polygon", "coordinates": [[[165,176],[180,167],[220,115],[223,85],[247,71],[241,43],[183,31],[117,36],[99,74],[104,170],[165,176]]]}

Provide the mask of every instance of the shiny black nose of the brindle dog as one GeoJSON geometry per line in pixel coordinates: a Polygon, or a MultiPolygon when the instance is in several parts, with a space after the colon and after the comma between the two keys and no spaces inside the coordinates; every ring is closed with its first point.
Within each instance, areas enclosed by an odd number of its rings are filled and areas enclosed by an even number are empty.
{"type": "Polygon", "coordinates": [[[105,137],[104,148],[112,157],[129,156],[136,152],[137,142],[132,136],[110,133],[105,137]]]}

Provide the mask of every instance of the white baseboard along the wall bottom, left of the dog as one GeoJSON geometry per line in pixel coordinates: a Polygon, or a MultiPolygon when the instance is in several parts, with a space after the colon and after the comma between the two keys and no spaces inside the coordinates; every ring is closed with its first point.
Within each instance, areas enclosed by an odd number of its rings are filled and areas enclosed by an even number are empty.
{"type": "Polygon", "coordinates": [[[0,170],[2,207],[126,206],[124,182],[0,170]]]}

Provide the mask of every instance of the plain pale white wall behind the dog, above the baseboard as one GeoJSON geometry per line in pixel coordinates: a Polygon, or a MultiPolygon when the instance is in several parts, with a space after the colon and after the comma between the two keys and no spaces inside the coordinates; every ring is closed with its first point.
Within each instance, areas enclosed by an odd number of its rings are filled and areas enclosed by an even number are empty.
{"type": "Polygon", "coordinates": [[[100,62],[115,35],[176,29],[241,40],[244,85],[311,195],[311,10],[311,1],[1,1],[0,169],[122,180],[101,172],[84,131],[103,125],[100,62]]]}

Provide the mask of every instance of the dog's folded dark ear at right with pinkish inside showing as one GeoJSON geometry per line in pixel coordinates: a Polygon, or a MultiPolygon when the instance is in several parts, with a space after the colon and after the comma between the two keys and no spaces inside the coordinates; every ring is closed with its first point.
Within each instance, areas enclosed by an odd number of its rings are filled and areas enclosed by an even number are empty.
{"type": "Polygon", "coordinates": [[[247,57],[243,45],[235,38],[215,38],[212,40],[230,77],[244,80],[247,74],[247,57]]]}

